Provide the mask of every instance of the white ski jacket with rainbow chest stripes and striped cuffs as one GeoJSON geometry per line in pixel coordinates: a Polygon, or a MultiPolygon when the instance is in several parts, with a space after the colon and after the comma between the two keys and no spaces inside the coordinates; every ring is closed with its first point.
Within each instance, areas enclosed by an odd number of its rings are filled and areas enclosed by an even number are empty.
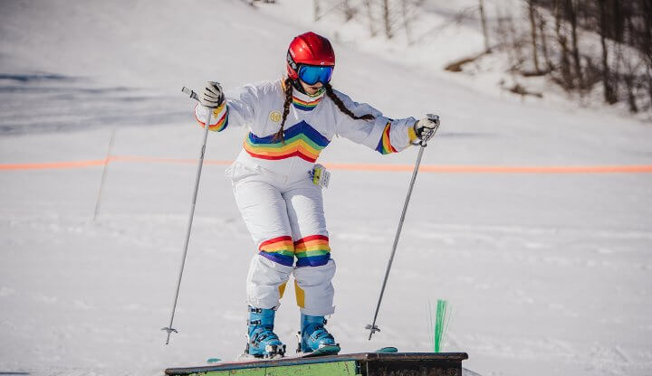
{"type": "MultiPolygon", "coordinates": [[[[415,118],[391,119],[366,103],[357,103],[340,91],[333,90],[346,108],[356,116],[371,114],[374,120],[356,120],[340,111],[322,93],[311,97],[292,90],[292,106],[285,120],[284,143],[274,140],[283,118],[283,80],[264,81],[225,93],[225,103],[213,109],[209,130],[248,127],[243,150],[237,162],[258,165],[288,181],[301,179],[312,170],[321,150],[335,135],[369,146],[381,154],[396,153],[417,138],[415,118]]],[[[197,121],[205,126],[209,108],[197,105],[197,121]]]]}

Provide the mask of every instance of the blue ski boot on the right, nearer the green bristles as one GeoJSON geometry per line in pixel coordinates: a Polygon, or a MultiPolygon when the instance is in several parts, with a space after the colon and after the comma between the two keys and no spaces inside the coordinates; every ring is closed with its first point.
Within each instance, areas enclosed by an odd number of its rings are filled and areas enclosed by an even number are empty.
{"type": "Polygon", "coordinates": [[[324,316],[301,316],[301,332],[299,332],[299,348],[297,353],[314,353],[314,355],[329,355],[340,353],[340,343],[328,333],[324,325],[324,316]]]}

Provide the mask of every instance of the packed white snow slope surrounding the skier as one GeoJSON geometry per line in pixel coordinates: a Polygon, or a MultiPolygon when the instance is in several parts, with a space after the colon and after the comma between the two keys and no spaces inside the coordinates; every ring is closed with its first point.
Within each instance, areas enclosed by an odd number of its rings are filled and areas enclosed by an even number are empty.
{"type": "MultiPolygon", "coordinates": [[[[181,87],[280,78],[288,42],[311,29],[310,9],[290,18],[280,1],[0,2],[0,164],[102,159],[114,130],[112,155],[197,158],[202,130],[181,87]]],[[[442,51],[477,33],[456,27],[463,38],[437,41],[442,51]]],[[[337,26],[316,30],[338,39],[337,26]]],[[[391,117],[441,115],[424,164],[652,164],[646,124],[489,95],[426,63],[386,58],[388,46],[334,47],[332,83],[353,99],[391,117]]],[[[232,160],[244,134],[210,135],[206,157],[232,160]]],[[[321,162],[413,164],[416,155],[339,138],[321,162]]],[[[224,170],[204,169],[168,346],[159,329],[196,166],[110,163],[97,221],[101,166],[0,170],[0,372],[156,375],[241,353],[254,244],[224,170]]],[[[445,351],[469,353],[465,367],[480,374],[652,371],[652,174],[419,174],[371,342],[364,325],[410,173],[332,174],[324,197],[339,269],[329,325],[344,352],[431,351],[427,304],[443,297],[455,309],[445,351]]],[[[299,312],[288,290],[277,332],[292,348],[299,312]]]]}

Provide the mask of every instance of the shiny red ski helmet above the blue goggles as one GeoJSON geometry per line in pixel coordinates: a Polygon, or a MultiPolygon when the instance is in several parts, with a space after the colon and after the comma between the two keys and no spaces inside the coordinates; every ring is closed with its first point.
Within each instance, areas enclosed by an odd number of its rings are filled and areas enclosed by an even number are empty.
{"type": "Polygon", "coordinates": [[[331,42],[312,32],[295,37],[287,53],[288,77],[298,79],[301,64],[334,66],[335,52],[332,51],[331,42]]]}

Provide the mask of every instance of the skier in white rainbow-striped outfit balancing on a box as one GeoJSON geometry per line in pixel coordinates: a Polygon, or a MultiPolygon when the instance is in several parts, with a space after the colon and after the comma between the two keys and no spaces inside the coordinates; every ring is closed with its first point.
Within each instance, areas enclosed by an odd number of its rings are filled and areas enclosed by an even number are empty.
{"type": "Polygon", "coordinates": [[[248,127],[243,150],[226,170],[235,202],[257,246],[246,278],[249,305],[245,353],[283,355],[285,346],[273,333],[274,315],[292,274],[301,310],[299,351],[340,351],[326,330],[334,312],[329,233],[322,206],[323,175],[315,164],[335,135],[385,155],[410,146],[436,127],[428,118],[391,119],[368,104],[357,103],[331,87],[335,53],[331,42],[303,33],[290,43],[287,77],[245,85],[225,95],[209,81],[195,109],[209,129],[248,127]],[[296,258],[296,263],[294,263],[296,258]]]}

